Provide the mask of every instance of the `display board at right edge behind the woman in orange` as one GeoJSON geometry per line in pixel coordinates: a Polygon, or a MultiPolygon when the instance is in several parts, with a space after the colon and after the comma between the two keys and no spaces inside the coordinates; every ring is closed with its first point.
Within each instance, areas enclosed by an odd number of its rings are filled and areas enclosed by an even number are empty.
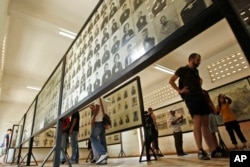
{"type": "MultiPolygon", "coordinates": [[[[222,87],[209,91],[209,95],[215,106],[218,105],[218,95],[225,94],[232,99],[230,104],[231,110],[234,112],[238,121],[250,120],[250,82],[249,78],[244,78],[222,87]]],[[[217,116],[219,125],[223,124],[221,117],[217,116]]]]}

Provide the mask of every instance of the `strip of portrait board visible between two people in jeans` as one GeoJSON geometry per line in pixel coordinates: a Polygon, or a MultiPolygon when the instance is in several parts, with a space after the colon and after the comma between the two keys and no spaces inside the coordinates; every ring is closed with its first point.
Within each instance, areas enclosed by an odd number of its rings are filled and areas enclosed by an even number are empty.
{"type": "Polygon", "coordinates": [[[78,140],[86,140],[90,137],[91,131],[91,110],[89,107],[86,107],[79,111],[80,114],[80,127],[78,140]]]}

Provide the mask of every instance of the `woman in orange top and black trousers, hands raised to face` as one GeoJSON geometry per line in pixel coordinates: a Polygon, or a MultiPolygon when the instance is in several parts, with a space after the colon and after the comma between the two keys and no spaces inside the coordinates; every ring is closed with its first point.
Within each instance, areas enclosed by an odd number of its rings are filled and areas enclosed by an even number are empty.
{"type": "Polygon", "coordinates": [[[239,137],[240,141],[243,144],[243,149],[248,149],[246,145],[246,138],[244,137],[243,133],[241,132],[240,125],[234,116],[234,113],[230,109],[229,105],[232,103],[232,100],[225,96],[224,94],[219,94],[218,96],[218,106],[216,108],[217,112],[221,114],[226,130],[230,136],[232,143],[234,144],[234,149],[237,150],[237,140],[235,138],[234,132],[239,137]]]}

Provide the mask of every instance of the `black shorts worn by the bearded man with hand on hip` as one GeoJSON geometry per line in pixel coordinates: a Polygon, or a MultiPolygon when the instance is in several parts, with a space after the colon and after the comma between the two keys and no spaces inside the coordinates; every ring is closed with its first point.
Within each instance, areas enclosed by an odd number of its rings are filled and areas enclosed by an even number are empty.
{"type": "Polygon", "coordinates": [[[184,101],[187,105],[191,117],[194,115],[209,115],[209,105],[202,94],[185,95],[184,101]]]}

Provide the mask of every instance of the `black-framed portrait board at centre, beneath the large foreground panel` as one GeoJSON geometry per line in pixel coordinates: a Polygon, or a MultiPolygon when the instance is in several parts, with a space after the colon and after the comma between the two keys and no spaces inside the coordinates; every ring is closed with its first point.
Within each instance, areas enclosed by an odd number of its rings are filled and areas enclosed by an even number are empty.
{"type": "Polygon", "coordinates": [[[121,132],[142,125],[143,102],[140,78],[136,77],[105,95],[105,111],[111,118],[112,127],[107,134],[121,132]]]}

